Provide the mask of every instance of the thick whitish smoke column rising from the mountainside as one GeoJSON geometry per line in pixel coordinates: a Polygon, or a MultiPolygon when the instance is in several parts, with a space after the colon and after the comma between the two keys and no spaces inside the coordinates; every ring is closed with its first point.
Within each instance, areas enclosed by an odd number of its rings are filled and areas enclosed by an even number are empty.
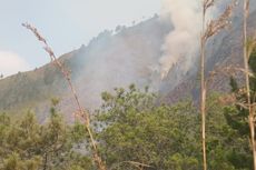
{"type": "Polygon", "coordinates": [[[194,63],[201,30],[201,10],[200,1],[196,0],[163,0],[163,3],[161,18],[170,19],[174,24],[174,30],[163,44],[159,60],[159,71],[165,78],[177,62],[183,63],[183,72],[187,72],[194,63]]]}

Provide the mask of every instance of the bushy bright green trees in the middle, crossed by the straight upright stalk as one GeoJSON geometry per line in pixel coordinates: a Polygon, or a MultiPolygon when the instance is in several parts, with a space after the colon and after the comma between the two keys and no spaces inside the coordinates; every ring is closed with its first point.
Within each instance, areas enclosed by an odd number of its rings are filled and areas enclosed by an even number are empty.
{"type": "MultiPolygon", "coordinates": [[[[147,164],[144,169],[201,169],[200,120],[189,101],[174,106],[158,106],[148,91],[131,86],[128,91],[102,93],[104,104],[98,111],[100,153],[110,169],[137,169],[132,163],[147,164]]],[[[208,99],[207,152],[210,169],[235,169],[229,151],[233,129],[227,126],[218,94],[208,99]]],[[[234,143],[232,143],[234,142],[234,143]]]]}

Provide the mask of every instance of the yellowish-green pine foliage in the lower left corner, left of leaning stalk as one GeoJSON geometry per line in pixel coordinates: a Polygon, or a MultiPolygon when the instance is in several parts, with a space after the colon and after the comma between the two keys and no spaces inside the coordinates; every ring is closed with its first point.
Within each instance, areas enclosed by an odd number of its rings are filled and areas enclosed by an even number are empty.
{"type": "Polygon", "coordinates": [[[75,150],[77,142],[72,137],[79,134],[73,128],[63,122],[53,107],[45,124],[39,124],[31,112],[14,123],[7,114],[0,114],[0,169],[92,169],[91,160],[75,150]]]}

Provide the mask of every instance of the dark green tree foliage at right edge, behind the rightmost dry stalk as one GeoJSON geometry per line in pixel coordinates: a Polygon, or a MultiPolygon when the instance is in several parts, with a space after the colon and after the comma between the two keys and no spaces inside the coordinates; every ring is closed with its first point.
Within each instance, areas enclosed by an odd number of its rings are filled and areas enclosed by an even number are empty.
{"type": "MultiPolygon", "coordinates": [[[[249,58],[249,67],[254,74],[250,77],[250,96],[252,102],[255,102],[256,94],[256,51],[249,58]]],[[[230,78],[232,92],[235,93],[236,101],[246,103],[246,93],[243,92],[243,87],[238,87],[236,80],[230,78]]],[[[229,142],[233,148],[227,152],[228,160],[236,169],[253,169],[252,148],[249,146],[249,124],[248,124],[248,109],[237,104],[236,107],[225,107],[224,114],[228,128],[232,129],[227,133],[229,142]]]]}

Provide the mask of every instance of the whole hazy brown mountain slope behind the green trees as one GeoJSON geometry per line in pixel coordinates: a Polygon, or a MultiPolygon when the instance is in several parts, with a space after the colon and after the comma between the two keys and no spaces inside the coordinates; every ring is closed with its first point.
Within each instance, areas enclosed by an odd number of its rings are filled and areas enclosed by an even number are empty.
{"type": "MultiPolygon", "coordinates": [[[[240,64],[242,62],[242,20],[239,11],[234,18],[230,30],[214,38],[207,49],[207,72],[216,66],[240,64]]],[[[249,19],[249,32],[256,29],[256,12],[249,19]]],[[[72,70],[72,81],[79,99],[86,109],[93,110],[100,104],[100,93],[115,87],[128,87],[135,83],[140,88],[150,86],[167,103],[183,97],[198,98],[197,82],[198,58],[190,70],[177,77],[181,64],[176,64],[166,79],[160,80],[156,66],[163,54],[161,46],[173,30],[169,22],[158,16],[134,27],[117,27],[114,31],[104,31],[90,43],[60,57],[67,68],[72,70]]],[[[221,73],[210,83],[219,91],[228,90],[228,78],[221,73]]],[[[60,111],[72,120],[72,97],[66,82],[52,64],[46,64],[33,71],[18,73],[0,80],[0,112],[22,112],[20,108],[33,109],[43,121],[50,108],[50,99],[60,98],[60,111]]]]}

